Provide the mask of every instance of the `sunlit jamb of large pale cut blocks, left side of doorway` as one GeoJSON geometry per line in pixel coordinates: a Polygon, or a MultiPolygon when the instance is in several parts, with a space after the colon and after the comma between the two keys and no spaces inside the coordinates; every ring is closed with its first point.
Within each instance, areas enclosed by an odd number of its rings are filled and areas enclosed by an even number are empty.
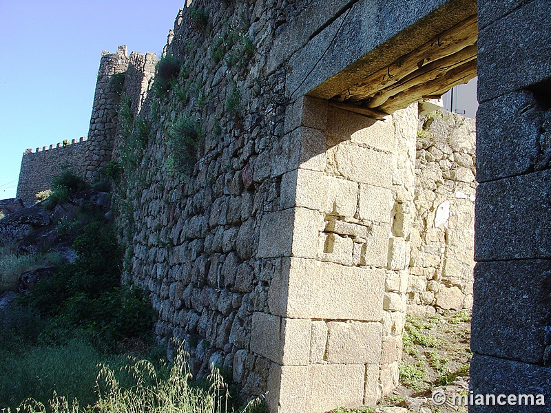
{"type": "Polygon", "coordinates": [[[253,315],[251,350],[275,363],[273,410],[374,405],[402,356],[417,105],[374,120],[306,97],[287,116],[302,116],[285,129],[301,158],[282,176],[288,209],[261,222],[259,255],[289,256],[289,270],[253,315]],[[278,325],[282,337],[266,335],[278,325]]]}

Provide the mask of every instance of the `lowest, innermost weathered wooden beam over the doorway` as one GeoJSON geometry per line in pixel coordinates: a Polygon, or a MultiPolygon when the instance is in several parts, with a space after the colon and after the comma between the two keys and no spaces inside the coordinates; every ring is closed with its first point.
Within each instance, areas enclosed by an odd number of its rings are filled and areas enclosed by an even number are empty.
{"type": "Polygon", "coordinates": [[[477,61],[471,60],[435,78],[433,81],[428,81],[422,85],[415,85],[404,90],[404,92],[395,94],[384,105],[377,107],[377,109],[387,114],[392,114],[397,109],[402,109],[422,99],[423,96],[444,94],[452,87],[461,85],[461,83],[467,83],[475,76],[477,76],[477,61]]]}

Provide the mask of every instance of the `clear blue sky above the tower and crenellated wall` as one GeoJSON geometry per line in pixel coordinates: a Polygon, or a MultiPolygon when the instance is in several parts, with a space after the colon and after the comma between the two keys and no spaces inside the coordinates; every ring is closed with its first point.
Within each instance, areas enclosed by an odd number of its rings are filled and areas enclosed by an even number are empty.
{"type": "Polygon", "coordinates": [[[160,54],[183,0],[0,0],[0,199],[26,148],[86,136],[102,50],[160,54]]]}

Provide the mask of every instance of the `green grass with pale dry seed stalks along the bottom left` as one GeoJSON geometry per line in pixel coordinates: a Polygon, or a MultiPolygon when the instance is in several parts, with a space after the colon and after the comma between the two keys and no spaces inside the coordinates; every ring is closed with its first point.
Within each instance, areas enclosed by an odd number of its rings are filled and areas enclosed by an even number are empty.
{"type": "MultiPolygon", "coordinates": [[[[203,385],[196,385],[183,354],[180,348],[167,366],[128,357],[104,363],[92,346],[79,341],[63,348],[37,348],[18,367],[26,369],[23,379],[32,374],[21,391],[38,397],[25,399],[18,407],[33,413],[267,413],[261,399],[233,407],[228,384],[217,369],[203,385]]],[[[20,382],[18,372],[14,379],[20,382]]],[[[8,404],[13,411],[14,400],[8,404]]]]}

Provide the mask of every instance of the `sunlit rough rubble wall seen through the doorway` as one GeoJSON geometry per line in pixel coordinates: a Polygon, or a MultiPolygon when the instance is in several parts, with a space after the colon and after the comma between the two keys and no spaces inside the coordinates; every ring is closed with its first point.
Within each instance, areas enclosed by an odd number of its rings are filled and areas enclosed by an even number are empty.
{"type": "Polygon", "coordinates": [[[475,121],[430,103],[419,107],[408,312],[471,308],[475,121]]]}

